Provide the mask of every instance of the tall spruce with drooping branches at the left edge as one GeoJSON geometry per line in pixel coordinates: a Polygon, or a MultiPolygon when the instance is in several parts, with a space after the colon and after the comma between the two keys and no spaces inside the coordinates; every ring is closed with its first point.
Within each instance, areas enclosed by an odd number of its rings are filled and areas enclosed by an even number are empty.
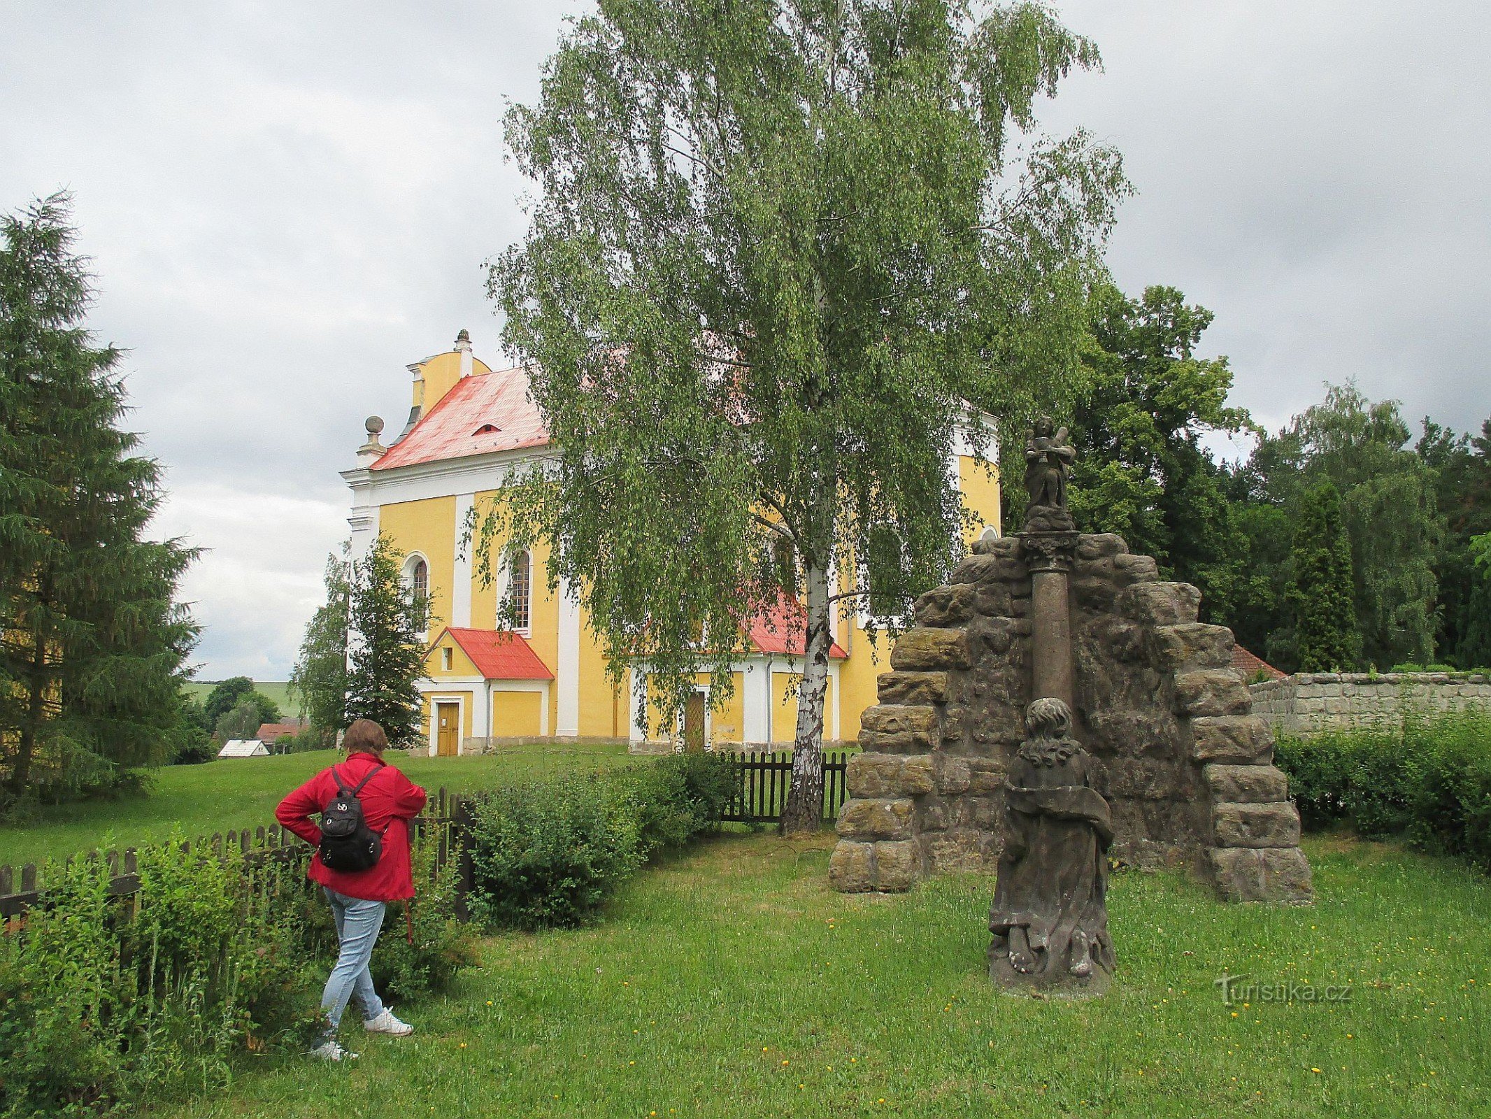
{"type": "Polygon", "coordinates": [[[195,551],[143,539],[161,468],[119,428],[119,351],[83,325],[69,195],[0,218],[0,780],[4,798],[109,785],[188,737],[174,601],[195,551]]]}

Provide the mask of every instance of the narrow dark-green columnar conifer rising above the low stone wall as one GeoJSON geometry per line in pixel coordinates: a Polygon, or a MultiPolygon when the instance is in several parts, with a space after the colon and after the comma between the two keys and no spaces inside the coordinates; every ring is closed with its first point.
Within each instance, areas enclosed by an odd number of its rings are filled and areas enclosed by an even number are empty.
{"type": "Polygon", "coordinates": [[[1294,518],[1294,633],[1300,671],[1349,668],[1361,646],[1352,597],[1351,540],[1340,494],[1327,479],[1300,495],[1294,518]]]}

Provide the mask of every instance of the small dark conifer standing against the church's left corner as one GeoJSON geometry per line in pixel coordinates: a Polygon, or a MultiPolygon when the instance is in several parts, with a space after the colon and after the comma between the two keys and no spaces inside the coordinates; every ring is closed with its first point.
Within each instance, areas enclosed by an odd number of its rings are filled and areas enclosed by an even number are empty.
{"type": "Polygon", "coordinates": [[[352,562],[346,718],[373,719],[392,746],[420,740],[425,604],[404,586],[394,543],[380,536],[352,562]]]}

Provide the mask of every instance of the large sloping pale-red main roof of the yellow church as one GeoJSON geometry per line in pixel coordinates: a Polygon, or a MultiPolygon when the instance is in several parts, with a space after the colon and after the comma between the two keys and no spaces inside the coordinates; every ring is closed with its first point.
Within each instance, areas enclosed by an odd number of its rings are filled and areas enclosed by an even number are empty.
{"type": "Polygon", "coordinates": [[[371,468],[517,451],[547,442],[543,416],[528,398],[528,373],[499,369],[458,380],[371,468]]]}

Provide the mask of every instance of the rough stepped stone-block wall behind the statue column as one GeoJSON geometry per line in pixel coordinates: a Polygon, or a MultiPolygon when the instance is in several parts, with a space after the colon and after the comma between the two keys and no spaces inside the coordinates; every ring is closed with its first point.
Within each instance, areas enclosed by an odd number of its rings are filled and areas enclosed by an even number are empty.
{"type": "MultiPolygon", "coordinates": [[[[1199,624],[1200,592],[1160,582],[1117,536],[1078,537],[1069,597],[1074,733],[1112,807],[1112,855],[1193,861],[1233,900],[1308,900],[1299,816],[1230,667],[1232,631],[1199,624]]],[[[1023,539],[975,545],[915,619],[848,764],[829,867],[842,891],[901,891],[999,859],[1005,771],[1032,700],[1023,539]]]]}

